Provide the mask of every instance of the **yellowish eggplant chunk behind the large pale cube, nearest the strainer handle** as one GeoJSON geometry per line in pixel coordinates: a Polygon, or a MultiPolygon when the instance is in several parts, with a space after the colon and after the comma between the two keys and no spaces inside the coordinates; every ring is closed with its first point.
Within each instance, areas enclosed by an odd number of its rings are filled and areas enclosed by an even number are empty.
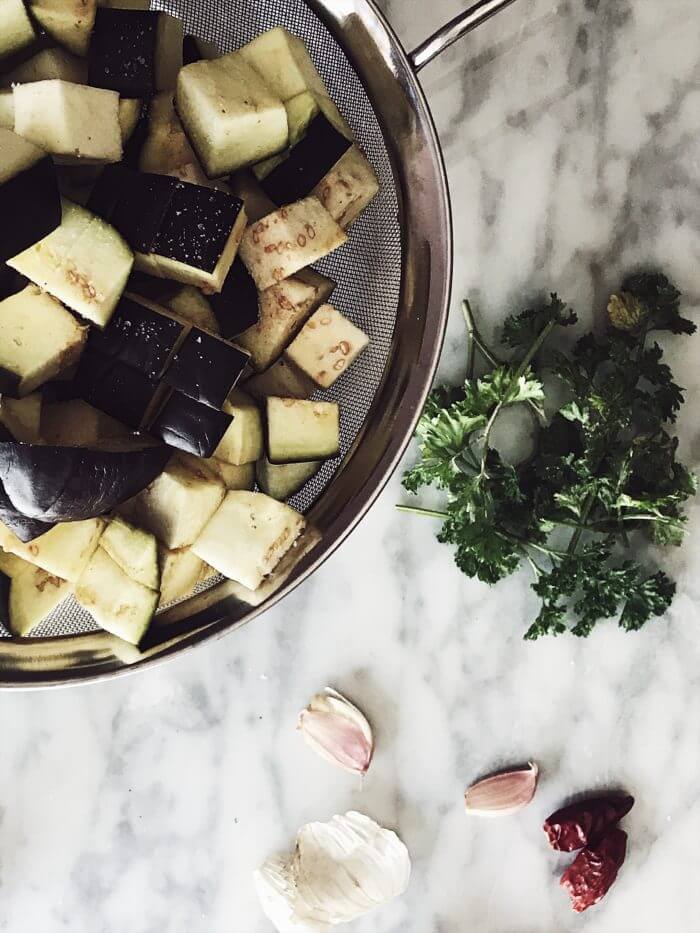
{"type": "Polygon", "coordinates": [[[331,100],[323,78],[298,36],[277,26],[244,45],[240,54],[280,100],[287,102],[304,92],[310,93],[338,131],[352,139],[350,127],[331,100]]]}

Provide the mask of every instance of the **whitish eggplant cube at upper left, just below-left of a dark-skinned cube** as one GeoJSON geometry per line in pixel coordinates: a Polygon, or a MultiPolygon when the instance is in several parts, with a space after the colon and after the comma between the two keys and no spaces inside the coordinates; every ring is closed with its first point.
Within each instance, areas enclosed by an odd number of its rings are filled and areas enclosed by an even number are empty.
{"type": "Polygon", "coordinates": [[[19,84],[12,93],[20,136],[71,162],[121,159],[119,95],[114,91],[52,80],[19,84]]]}

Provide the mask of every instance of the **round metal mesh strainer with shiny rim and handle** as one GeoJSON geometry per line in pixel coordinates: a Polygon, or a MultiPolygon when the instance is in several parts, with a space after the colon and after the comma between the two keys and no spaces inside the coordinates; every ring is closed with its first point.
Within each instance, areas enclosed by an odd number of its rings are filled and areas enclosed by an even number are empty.
{"type": "MultiPolygon", "coordinates": [[[[415,71],[511,2],[480,0],[411,59],[371,0],[151,4],[178,16],[186,32],[215,42],[222,52],[277,25],[304,39],[381,183],[380,194],[351,228],[349,242],[317,264],[338,283],[332,303],[371,342],[333,389],[319,393],[340,403],[342,459],[326,464],[292,501],[321,539],[294,568],[292,582],[330,553],[381,489],[411,436],[437,363],[449,302],[450,219],[440,150],[415,71]]],[[[281,580],[267,604],[290,586],[281,580]]],[[[0,640],[0,685],[117,673],[223,632],[259,611],[241,602],[235,587],[215,586],[174,614],[166,612],[165,624],[161,617],[154,626],[159,635],[151,648],[132,651],[105,633],[92,634],[92,619],[71,599],[34,638],[0,640]]]]}

